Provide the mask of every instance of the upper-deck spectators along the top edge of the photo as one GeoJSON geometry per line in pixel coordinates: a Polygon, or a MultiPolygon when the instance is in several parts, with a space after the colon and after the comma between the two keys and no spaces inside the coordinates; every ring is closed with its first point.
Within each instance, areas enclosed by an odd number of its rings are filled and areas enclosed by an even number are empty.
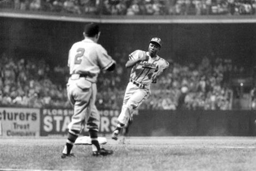
{"type": "Polygon", "coordinates": [[[9,0],[0,8],[76,15],[253,15],[256,0],[9,0]]]}

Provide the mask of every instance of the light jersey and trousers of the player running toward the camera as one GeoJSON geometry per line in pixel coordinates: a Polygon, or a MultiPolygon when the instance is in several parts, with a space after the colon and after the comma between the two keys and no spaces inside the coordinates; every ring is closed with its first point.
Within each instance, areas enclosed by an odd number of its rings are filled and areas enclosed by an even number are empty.
{"type": "Polygon", "coordinates": [[[151,58],[148,52],[143,50],[135,50],[129,55],[129,59],[136,60],[142,58],[143,55],[148,55],[149,59],[138,62],[133,66],[130,81],[126,87],[123,106],[118,117],[118,122],[123,124],[126,124],[132,116],[133,110],[141,105],[144,99],[148,98],[153,79],[169,66],[169,63],[160,56],[157,55],[155,58],[151,58]]]}

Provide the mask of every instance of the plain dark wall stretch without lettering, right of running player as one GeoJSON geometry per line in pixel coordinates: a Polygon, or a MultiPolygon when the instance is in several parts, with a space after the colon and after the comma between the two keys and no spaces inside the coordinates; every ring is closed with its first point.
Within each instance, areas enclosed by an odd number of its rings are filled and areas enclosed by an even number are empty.
{"type": "Polygon", "coordinates": [[[255,136],[255,111],[139,111],[131,136],[255,136]]]}

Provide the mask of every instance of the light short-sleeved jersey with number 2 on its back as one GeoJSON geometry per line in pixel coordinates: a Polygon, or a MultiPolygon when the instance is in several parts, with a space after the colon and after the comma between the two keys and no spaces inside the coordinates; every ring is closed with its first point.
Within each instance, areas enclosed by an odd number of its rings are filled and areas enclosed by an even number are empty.
{"type": "Polygon", "coordinates": [[[107,50],[90,39],[74,43],[69,50],[70,74],[86,74],[94,83],[100,70],[106,70],[114,63],[107,50]]]}

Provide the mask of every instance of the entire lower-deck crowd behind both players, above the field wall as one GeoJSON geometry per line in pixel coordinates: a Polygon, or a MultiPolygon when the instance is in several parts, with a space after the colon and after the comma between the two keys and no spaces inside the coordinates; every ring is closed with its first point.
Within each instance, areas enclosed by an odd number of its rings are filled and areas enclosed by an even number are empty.
{"type": "MultiPolygon", "coordinates": [[[[97,102],[99,109],[120,109],[129,69],[124,67],[126,52],[115,52],[117,69],[112,74],[99,75],[97,102]]],[[[0,105],[26,107],[70,107],[66,97],[68,67],[52,67],[44,59],[15,58],[2,53],[0,105]],[[58,78],[58,79],[56,79],[58,78]],[[59,81],[62,80],[62,81],[59,81]]],[[[206,56],[200,64],[174,63],[156,84],[151,96],[139,109],[229,110],[233,91],[228,86],[231,72],[243,72],[231,60],[206,56]]]]}

